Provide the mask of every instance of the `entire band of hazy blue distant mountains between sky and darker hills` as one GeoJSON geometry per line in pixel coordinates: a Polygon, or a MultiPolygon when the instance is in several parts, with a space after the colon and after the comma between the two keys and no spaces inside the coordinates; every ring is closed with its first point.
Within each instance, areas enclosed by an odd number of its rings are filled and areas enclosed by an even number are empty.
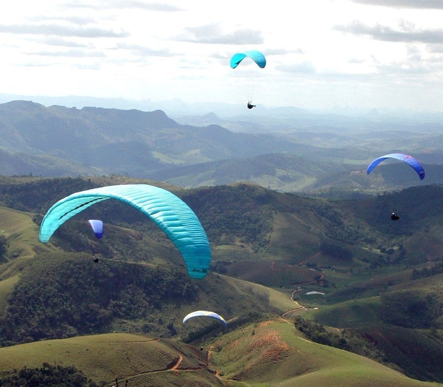
{"type": "MultiPolygon", "coordinates": [[[[371,116],[378,117],[376,112],[371,116]]],[[[382,172],[402,176],[399,165],[380,166],[368,178],[366,165],[380,154],[406,149],[424,163],[443,163],[443,135],[436,122],[396,123],[388,130],[386,122],[289,107],[249,118],[221,119],[209,113],[180,120],[162,110],[3,103],[0,174],[114,174],[186,187],[252,181],[282,191],[371,190],[375,184],[392,189],[420,183],[413,174],[390,183],[382,172]],[[279,119],[273,118],[276,112],[279,119]],[[230,126],[235,130],[225,128],[230,126]]],[[[427,182],[443,182],[443,173],[434,170],[427,182]]]]}

